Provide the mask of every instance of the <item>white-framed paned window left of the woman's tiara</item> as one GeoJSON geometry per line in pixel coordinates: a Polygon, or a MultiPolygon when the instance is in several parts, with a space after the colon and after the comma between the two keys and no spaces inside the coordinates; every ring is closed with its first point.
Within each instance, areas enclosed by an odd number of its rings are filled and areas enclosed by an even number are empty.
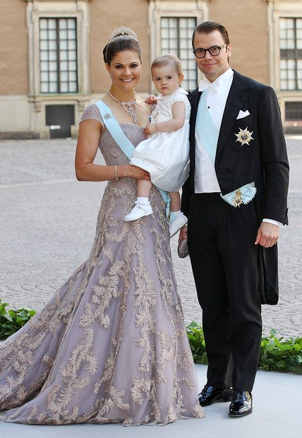
{"type": "Polygon", "coordinates": [[[78,93],[76,18],[40,18],[41,93],[78,93]]]}

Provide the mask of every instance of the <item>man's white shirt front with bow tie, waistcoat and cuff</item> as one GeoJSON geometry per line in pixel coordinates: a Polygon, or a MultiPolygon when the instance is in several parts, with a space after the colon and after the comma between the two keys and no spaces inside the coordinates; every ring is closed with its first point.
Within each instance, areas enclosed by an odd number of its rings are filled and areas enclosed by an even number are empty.
{"type": "MultiPolygon", "coordinates": [[[[231,83],[234,78],[234,71],[229,67],[227,71],[222,73],[215,81],[210,82],[206,78],[200,81],[199,91],[207,90],[207,107],[211,114],[212,120],[215,123],[218,131],[222,124],[222,116],[224,107],[227,102],[231,83]]],[[[195,131],[195,193],[213,193],[220,192],[215,165],[210,160],[198,131],[195,131]]],[[[273,223],[274,225],[282,225],[277,220],[263,219],[263,222],[273,223]]]]}

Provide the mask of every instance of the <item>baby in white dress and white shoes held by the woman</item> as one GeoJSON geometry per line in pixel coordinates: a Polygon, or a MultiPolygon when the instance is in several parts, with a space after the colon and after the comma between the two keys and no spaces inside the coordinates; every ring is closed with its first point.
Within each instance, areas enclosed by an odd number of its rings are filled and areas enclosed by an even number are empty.
{"type": "Polygon", "coordinates": [[[125,220],[131,221],[152,214],[149,194],[152,183],[169,192],[170,237],[187,223],[181,213],[179,189],[188,178],[189,120],[191,105],[188,93],[180,88],[183,81],[181,62],[171,54],[157,57],[151,66],[152,81],[160,93],[147,102],[156,102],[151,123],[145,127],[147,139],[136,148],[130,164],[150,173],[151,181],[138,180],[138,198],[125,220]]]}

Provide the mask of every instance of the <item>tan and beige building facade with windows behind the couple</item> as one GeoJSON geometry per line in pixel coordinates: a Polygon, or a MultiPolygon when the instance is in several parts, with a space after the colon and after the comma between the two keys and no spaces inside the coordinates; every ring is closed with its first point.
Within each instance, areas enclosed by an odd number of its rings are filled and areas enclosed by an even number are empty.
{"type": "Polygon", "coordinates": [[[0,10],[0,138],[76,136],[109,86],[102,48],[121,25],[143,51],[137,93],[152,91],[150,63],[164,52],[193,90],[191,35],[204,20],[227,27],[231,67],[272,85],[285,129],[302,131],[302,0],[0,0],[0,10]]]}

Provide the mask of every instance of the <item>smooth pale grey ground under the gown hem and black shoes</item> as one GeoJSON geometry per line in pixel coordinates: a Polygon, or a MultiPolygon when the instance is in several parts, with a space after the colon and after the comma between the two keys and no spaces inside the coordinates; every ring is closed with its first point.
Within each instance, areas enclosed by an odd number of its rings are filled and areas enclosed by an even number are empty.
{"type": "MultiPolygon", "coordinates": [[[[200,387],[207,367],[195,365],[200,387]]],[[[258,371],[253,389],[253,413],[229,418],[229,403],[205,408],[205,418],[178,420],[166,426],[20,425],[0,421],[0,437],[8,438],[298,438],[301,437],[302,376],[258,371]],[[272,396],[273,394],[273,396],[272,396]]]]}

